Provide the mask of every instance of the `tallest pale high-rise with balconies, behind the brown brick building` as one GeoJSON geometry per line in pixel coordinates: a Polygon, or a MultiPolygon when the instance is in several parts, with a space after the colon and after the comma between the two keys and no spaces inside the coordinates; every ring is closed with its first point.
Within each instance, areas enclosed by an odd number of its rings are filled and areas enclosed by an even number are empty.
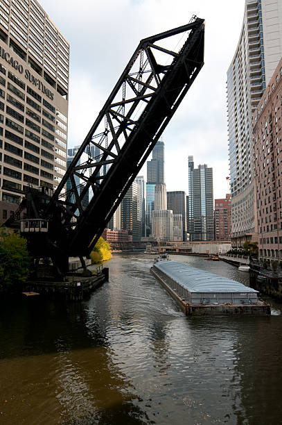
{"type": "Polygon", "coordinates": [[[227,72],[232,246],[256,240],[252,113],[282,56],[281,0],[246,0],[227,72]]]}

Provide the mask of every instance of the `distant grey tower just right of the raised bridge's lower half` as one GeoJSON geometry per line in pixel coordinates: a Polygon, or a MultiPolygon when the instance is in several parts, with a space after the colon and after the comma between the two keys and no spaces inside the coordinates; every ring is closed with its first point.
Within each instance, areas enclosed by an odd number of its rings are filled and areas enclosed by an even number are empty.
{"type": "Polygon", "coordinates": [[[141,240],[140,185],[134,181],[121,201],[121,228],[128,231],[132,241],[141,240]]]}

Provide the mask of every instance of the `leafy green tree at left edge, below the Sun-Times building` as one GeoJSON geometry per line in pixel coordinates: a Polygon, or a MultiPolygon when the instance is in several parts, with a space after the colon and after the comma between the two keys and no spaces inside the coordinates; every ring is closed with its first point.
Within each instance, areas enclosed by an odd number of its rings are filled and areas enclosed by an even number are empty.
{"type": "Polygon", "coordinates": [[[26,282],[31,259],[26,239],[18,233],[8,233],[3,227],[0,231],[0,291],[8,291],[26,282]]]}

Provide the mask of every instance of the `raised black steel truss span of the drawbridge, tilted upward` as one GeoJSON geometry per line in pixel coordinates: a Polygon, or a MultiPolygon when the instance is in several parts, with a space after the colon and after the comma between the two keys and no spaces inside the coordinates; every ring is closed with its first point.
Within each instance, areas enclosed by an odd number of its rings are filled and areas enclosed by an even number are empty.
{"type": "Polygon", "coordinates": [[[141,40],[44,212],[52,249],[89,254],[203,64],[203,19],[141,40]]]}

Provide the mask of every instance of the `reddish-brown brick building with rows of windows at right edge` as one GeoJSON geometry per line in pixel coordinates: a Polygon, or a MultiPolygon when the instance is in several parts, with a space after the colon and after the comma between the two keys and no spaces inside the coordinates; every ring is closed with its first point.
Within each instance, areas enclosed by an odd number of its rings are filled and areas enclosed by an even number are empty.
{"type": "Polygon", "coordinates": [[[281,92],[282,59],[253,115],[258,257],[268,262],[282,261],[281,92]]]}

